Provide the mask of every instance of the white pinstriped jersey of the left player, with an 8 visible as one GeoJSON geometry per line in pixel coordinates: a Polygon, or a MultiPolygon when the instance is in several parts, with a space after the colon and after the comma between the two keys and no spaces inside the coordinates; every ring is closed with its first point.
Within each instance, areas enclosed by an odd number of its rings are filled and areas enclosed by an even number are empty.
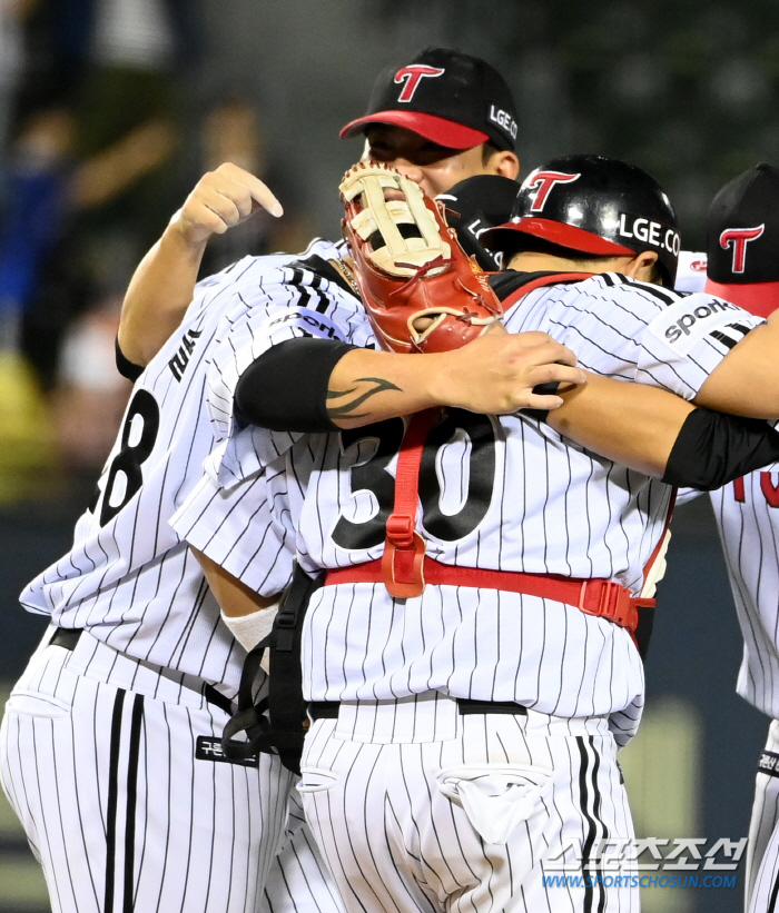
{"type": "MultiPolygon", "coordinates": [[[[326,257],[336,250],[324,241],[309,248],[326,257]]],[[[214,447],[206,406],[213,355],[254,302],[262,306],[266,277],[294,259],[246,257],[198,285],[181,326],[136,381],[71,550],[22,593],[28,609],[87,628],[129,656],[237,688],[244,653],[168,519],[214,447]]],[[[260,552],[259,588],[272,595],[288,580],[290,556],[273,534],[260,552]]]]}

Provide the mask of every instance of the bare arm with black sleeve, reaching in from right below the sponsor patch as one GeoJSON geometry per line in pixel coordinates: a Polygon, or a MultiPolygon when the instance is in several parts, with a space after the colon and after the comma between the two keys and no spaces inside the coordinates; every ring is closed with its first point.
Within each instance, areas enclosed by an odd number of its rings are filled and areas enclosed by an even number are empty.
{"type": "Polygon", "coordinates": [[[548,421],[614,463],[669,485],[712,490],[779,459],[766,421],[696,407],[667,390],[588,375],[548,421]]]}

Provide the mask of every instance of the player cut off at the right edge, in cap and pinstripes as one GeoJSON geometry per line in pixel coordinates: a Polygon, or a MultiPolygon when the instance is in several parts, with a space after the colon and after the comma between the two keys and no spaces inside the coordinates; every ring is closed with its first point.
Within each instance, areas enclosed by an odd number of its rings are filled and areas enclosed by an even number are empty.
{"type": "MultiPolygon", "coordinates": [[[[708,216],[708,250],[691,258],[691,285],[702,264],[706,290],[768,317],[779,307],[779,170],[758,165],[727,183],[708,216]]],[[[700,279],[698,280],[700,281],[700,279]]],[[[737,691],[771,720],[758,764],[749,830],[746,905],[773,911],[779,895],[779,641],[777,639],[777,534],[775,482],[779,464],[711,493],[743,635],[737,691]]],[[[680,493],[688,499],[692,492],[680,493]]]]}

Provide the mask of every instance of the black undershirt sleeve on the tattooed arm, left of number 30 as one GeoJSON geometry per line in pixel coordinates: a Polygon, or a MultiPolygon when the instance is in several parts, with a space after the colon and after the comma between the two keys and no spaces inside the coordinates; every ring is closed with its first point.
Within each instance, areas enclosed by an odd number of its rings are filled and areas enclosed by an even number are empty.
{"type": "Polygon", "coordinates": [[[263,353],[240,375],[236,416],[274,431],[337,431],[327,414],[333,368],[351,349],[331,339],[287,339],[263,353]]]}

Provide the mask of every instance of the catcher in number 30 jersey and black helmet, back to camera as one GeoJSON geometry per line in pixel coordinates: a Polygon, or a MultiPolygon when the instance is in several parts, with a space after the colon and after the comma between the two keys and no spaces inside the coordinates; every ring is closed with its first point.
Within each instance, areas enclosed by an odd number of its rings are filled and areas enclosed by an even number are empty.
{"type": "MultiPolygon", "coordinates": [[[[739,369],[739,338],[756,334],[755,357],[765,358],[759,320],[668,290],[676,220],[643,172],[555,160],[529,177],[520,206],[493,232],[512,266],[579,275],[502,276],[511,333],[553,328],[599,374],[712,405],[728,398],[717,375],[739,369]],[[698,326],[681,339],[690,315],[698,326]],[[726,356],[736,369],[722,370],[726,356]]],[[[217,562],[252,535],[238,524],[234,542],[229,516],[250,495],[244,467],[262,435],[237,429],[234,395],[244,419],[266,427],[345,429],[295,445],[266,479],[290,504],[298,560],[327,574],[304,628],[314,722],[300,792],[347,909],[635,905],[629,880],[548,889],[543,862],[573,838],[588,871],[596,841],[632,835],[614,737],[634,731],[643,681],[615,606],[630,614],[643,586],[669,487],[513,411],[452,409],[406,426],[394,417],[401,394],[414,393],[397,360],[406,356],[344,354],[328,341],[336,327],[317,331],[303,317],[272,316],[266,340],[247,345],[250,369],[240,354],[219,366],[226,379],[211,409],[236,434],[215,455],[217,484],[204,479],[174,522],[217,562]],[[317,384],[274,384],[304,350],[324,359],[317,349],[332,353],[317,384]],[[614,603],[591,607],[585,591],[614,603]]],[[[772,397],[762,408],[777,409],[772,397]]],[[[749,394],[737,405],[760,408],[749,394]]]]}

